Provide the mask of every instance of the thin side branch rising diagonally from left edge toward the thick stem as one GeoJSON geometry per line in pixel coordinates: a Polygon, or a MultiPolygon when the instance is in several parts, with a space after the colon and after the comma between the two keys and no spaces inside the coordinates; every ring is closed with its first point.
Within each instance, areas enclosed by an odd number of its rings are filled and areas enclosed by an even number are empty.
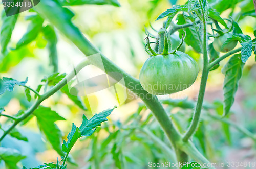
{"type": "MultiPolygon", "coordinates": [[[[76,71],[79,72],[83,67],[89,65],[90,62],[88,59],[84,60],[80,64],[76,66],[76,71]]],[[[49,96],[53,95],[55,92],[57,92],[59,89],[61,89],[63,86],[65,86],[72,78],[75,77],[75,74],[73,71],[69,73],[65,78],[63,78],[58,84],[56,84],[53,88],[51,88],[48,92],[41,95],[40,98],[28,109],[25,111],[24,115],[22,115],[19,118],[16,118],[15,122],[12,124],[12,126],[4,132],[4,134],[0,137],[0,141],[2,141],[5,136],[20,122],[22,122],[24,119],[26,119],[28,116],[30,116],[35,109],[41,104],[42,101],[49,98],[49,96]]]]}

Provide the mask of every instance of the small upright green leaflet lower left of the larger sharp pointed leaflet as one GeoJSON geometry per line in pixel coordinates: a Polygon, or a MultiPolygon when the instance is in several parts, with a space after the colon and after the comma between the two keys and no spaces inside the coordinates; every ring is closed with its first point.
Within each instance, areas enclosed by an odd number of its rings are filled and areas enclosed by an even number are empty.
{"type": "Polygon", "coordinates": [[[78,138],[80,138],[80,137],[81,137],[80,130],[73,123],[71,132],[68,134],[68,137],[67,137],[68,141],[66,142],[65,140],[63,140],[62,151],[69,153],[70,150],[72,149],[72,147],[74,146],[74,144],[76,143],[76,141],[78,140],[78,138]]]}

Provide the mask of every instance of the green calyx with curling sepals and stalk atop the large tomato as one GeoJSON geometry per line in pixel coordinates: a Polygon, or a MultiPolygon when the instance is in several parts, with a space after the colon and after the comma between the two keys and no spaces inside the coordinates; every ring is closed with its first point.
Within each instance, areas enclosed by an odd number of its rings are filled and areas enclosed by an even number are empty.
{"type": "MultiPolygon", "coordinates": [[[[184,29],[183,29],[184,30],[184,29]]],[[[186,37],[186,31],[184,30],[184,34],[182,34],[182,39],[181,39],[181,43],[179,44],[179,46],[175,49],[175,50],[170,50],[171,49],[171,44],[170,42],[168,42],[168,38],[167,38],[167,33],[166,33],[166,29],[165,28],[161,28],[158,31],[158,35],[159,35],[159,44],[156,42],[150,42],[149,34],[147,34],[147,37],[145,38],[146,40],[146,44],[145,44],[145,51],[150,54],[151,56],[157,56],[157,55],[169,55],[169,54],[174,54],[176,53],[180,47],[182,46],[184,39],[186,37]],[[150,44],[151,43],[156,43],[159,45],[159,49],[158,52],[154,51],[150,44]]]]}

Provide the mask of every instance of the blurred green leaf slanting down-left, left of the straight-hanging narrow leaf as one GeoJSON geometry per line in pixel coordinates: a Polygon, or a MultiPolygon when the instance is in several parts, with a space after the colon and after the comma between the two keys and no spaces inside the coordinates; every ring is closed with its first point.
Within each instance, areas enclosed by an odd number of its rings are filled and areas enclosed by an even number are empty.
{"type": "Polygon", "coordinates": [[[16,49],[35,40],[42,29],[42,23],[44,22],[44,19],[42,19],[39,15],[31,16],[29,17],[29,20],[31,20],[31,23],[29,23],[27,32],[17,42],[16,49]]]}

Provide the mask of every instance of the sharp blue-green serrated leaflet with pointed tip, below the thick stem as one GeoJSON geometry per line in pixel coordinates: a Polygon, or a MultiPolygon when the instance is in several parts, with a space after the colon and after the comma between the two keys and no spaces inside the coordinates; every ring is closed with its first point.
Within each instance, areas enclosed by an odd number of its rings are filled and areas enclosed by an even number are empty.
{"type": "Polygon", "coordinates": [[[115,108],[116,106],[113,109],[107,109],[100,112],[99,114],[95,114],[90,120],[88,120],[83,114],[82,124],[79,127],[79,130],[81,131],[81,136],[92,135],[93,132],[96,130],[97,126],[100,126],[102,122],[108,121],[106,117],[108,117],[115,108]]]}

